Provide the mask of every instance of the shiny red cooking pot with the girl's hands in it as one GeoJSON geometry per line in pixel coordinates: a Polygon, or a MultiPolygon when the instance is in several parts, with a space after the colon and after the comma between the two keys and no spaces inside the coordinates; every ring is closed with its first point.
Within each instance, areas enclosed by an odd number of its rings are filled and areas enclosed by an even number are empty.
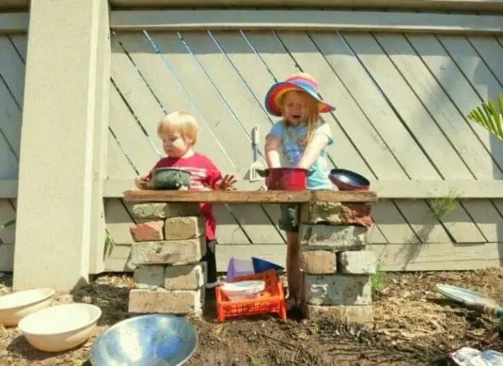
{"type": "Polygon", "coordinates": [[[303,168],[269,168],[257,173],[265,177],[265,185],[272,191],[305,191],[307,176],[313,172],[303,168]]]}

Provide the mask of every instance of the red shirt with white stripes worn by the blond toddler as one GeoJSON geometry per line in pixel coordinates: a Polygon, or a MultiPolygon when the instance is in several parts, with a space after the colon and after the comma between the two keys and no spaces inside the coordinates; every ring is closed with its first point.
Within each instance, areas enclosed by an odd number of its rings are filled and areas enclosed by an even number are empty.
{"type": "MultiPolygon", "coordinates": [[[[191,173],[189,189],[201,191],[205,186],[215,188],[216,182],[222,178],[222,173],[211,162],[209,157],[200,153],[194,153],[191,157],[163,157],[155,164],[147,177],[152,177],[152,171],[155,168],[182,168],[191,173]]],[[[216,220],[213,216],[211,204],[200,203],[201,215],[205,218],[206,239],[215,240],[216,220]]]]}

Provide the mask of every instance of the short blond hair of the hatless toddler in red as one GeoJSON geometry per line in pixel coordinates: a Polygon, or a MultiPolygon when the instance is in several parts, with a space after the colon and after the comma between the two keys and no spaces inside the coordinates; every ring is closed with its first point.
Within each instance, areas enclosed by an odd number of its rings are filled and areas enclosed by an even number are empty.
{"type": "Polygon", "coordinates": [[[165,115],[158,124],[158,136],[160,138],[179,133],[186,142],[191,139],[192,145],[196,144],[198,131],[199,125],[196,118],[181,110],[175,110],[165,115]]]}

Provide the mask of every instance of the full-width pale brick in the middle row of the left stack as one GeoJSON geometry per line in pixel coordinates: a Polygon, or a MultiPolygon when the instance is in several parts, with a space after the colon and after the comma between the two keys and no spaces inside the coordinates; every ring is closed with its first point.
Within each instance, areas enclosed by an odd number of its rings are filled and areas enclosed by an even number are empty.
{"type": "Polygon", "coordinates": [[[205,237],[162,242],[137,242],[131,247],[130,265],[197,263],[206,254],[205,237]]]}

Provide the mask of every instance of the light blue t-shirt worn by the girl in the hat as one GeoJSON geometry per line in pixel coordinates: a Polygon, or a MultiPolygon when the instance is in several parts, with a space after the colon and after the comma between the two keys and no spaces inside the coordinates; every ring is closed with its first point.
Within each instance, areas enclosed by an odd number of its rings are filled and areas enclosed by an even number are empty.
{"type": "MultiPolygon", "coordinates": [[[[297,166],[304,154],[305,147],[302,142],[307,137],[309,132],[307,126],[287,126],[283,121],[276,122],[272,125],[269,135],[276,135],[281,139],[280,157],[281,166],[285,168],[292,168],[297,166]]],[[[328,145],[331,145],[332,133],[330,133],[330,126],[326,123],[319,121],[316,124],[313,137],[323,134],[328,137],[328,145]]],[[[332,184],[328,179],[330,168],[328,167],[327,152],[323,149],[318,157],[318,160],[311,166],[310,171],[314,171],[307,177],[307,189],[331,189],[332,184]]]]}

